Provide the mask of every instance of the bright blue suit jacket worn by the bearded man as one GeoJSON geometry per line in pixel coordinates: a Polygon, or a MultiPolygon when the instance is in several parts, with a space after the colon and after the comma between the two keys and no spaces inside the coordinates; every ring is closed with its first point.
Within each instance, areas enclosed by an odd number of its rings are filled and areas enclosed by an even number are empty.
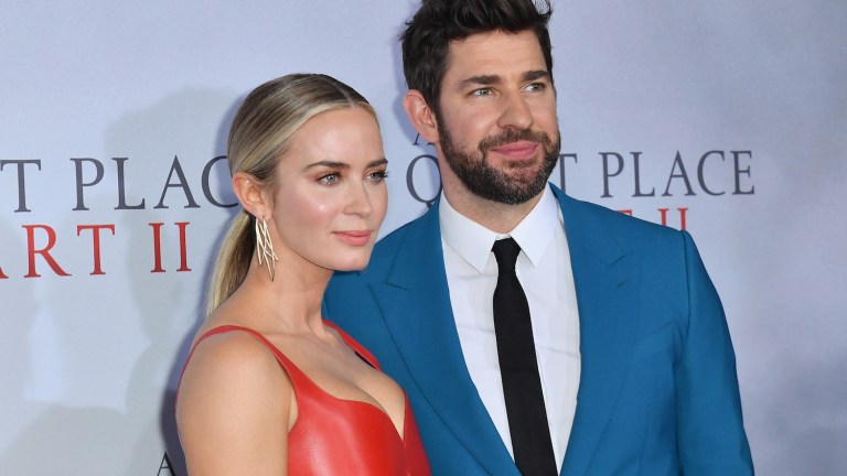
{"type": "MultiPolygon", "coordinates": [[[[553,188],[582,358],[561,474],[751,474],[732,344],[690,236],[553,188]]],[[[366,271],[335,273],[324,314],[407,391],[433,474],[519,474],[462,357],[438,204],[380,240],[366,271]]]]}

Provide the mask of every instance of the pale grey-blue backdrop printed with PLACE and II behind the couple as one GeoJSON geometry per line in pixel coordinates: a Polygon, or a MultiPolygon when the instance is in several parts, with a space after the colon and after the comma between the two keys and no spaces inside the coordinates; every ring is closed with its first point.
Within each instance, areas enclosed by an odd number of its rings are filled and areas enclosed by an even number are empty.
{"type": "MultiPolygon", "coordinates": [[[[418,216],[438,180],[396,44],[417,3],[7,3],[0,474],[184,475],[173,392],[234,213],[234,109],[286,73],[351,84],[390,160],[383,234],[418,216]]],[[[847,468],[845,24],[834,0],[555,2],[554,182],[694,234],[764,475],[847,468]]]]}

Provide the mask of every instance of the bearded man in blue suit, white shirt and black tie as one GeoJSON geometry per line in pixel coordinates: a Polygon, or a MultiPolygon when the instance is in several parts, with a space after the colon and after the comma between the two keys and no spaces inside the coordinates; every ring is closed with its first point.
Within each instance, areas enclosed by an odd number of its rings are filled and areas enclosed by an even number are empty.
{"type": "Polygon", "coordinates": [[[366,272],[336,273],[325,314],[406,389],[435,474],[751,474],[691,238],[547,183],[560,138],[544,7],[424,0],[401,37],[404,106],[443,193],[366,272]]]}

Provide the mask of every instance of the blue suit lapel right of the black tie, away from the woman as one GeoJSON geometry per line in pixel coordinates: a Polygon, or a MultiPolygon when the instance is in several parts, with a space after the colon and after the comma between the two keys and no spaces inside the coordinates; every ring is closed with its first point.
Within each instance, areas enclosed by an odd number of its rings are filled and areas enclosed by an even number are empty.
{"type": "Polygon", "coordinates": [[[637,262],[588,205],[554,187],[561,204],[577,291],[582,369],[562,475],[583,475],[618,400],[634,343],[637,262]]]}

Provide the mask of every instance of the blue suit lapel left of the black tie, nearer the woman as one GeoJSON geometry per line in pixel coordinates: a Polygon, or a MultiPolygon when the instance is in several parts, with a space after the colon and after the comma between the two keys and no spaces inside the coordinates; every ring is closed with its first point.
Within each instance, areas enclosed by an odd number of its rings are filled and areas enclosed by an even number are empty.
{"type": "Polygon", "coordinates": [[[443,263],[436,203],[409,225],[386,282],[372,290],[426,401],[489,473],[504,474],[514,462],[468,372],[443,263]]]}

